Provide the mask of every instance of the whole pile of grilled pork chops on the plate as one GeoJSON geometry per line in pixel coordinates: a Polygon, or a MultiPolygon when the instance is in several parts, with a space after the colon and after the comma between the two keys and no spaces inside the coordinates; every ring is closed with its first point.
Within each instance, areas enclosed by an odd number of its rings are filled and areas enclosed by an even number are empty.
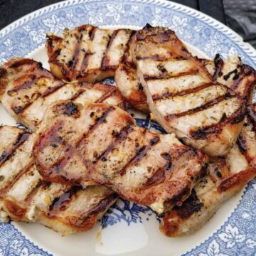
{"type": "Polygon", "coordinates": [[[154,210],[165,235],[188,235],[255,178],[256,72],[238,56],[199,59],[149,25],[83,25],[46,48],[50,71],[28,58],[0,68],[1,103],[28,127],[0,127],[1,221],[75,233],[121,197],[154,210]]]}

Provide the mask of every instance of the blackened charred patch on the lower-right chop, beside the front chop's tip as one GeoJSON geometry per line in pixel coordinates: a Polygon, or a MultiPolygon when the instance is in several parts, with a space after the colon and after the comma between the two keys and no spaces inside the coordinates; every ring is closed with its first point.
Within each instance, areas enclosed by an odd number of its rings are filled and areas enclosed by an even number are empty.
{"type": "Polygon", "coordinates": [[[201,210],[203,203],[198,199],[196,191],[192,189],[191,196],[182,203],[181,206],[174,206],[173,211],[181,218],[189,218],[193,213],[201,210]]]}

